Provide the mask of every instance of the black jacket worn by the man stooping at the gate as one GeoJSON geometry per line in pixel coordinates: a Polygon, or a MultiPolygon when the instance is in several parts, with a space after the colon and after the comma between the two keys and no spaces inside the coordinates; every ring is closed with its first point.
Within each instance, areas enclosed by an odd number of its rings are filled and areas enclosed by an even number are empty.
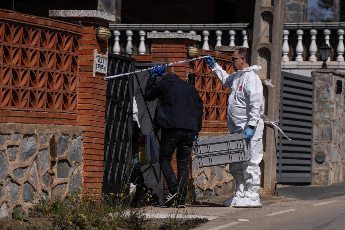
{"type": "Polygon", "coordinates": [[[204,102],[196,88],[174,73],[155,82],[155,78],[149,77],[145,87],[146,101],[158,98],[154,129],[189,129],[198,136],[203,124],[204,102]]]}

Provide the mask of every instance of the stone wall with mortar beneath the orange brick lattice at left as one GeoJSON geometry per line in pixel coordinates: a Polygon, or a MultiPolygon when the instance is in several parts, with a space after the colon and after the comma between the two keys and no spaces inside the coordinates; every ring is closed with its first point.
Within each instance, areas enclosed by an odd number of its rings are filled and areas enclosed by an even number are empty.
{"type": "Polygon", "coordinates": [[[83,130],[76,126],[1,124],[0,218],[82,186],[83,130]]]}

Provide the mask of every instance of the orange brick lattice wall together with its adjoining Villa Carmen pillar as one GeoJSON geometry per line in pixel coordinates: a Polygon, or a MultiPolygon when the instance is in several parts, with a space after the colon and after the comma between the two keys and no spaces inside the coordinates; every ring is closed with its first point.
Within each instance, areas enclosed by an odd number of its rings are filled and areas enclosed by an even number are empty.
{"type": "Polygon", "coordinates": [[[93,55],[107,55],[107,42],[97,40],[98,26],[62,20],[0,10],[0,122],[78,126],[82,192],[100,198],[106,81],[93,77],[93,55]]]}

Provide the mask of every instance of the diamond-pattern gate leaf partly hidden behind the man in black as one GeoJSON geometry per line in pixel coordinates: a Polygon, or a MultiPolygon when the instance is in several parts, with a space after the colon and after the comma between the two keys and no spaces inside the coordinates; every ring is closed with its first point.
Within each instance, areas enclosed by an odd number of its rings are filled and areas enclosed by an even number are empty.
{"type": "MultiPolygon", "coordinates": [[[[135,69],[146,69],[153,67],[150,63],[135,63],[135,69]]],[[[145,101],[144,93],[148,78],[152,77],[152,70],[136,73],[134,77],[134,96],[138,106],[138,120],[140,123],[140,134],[151,134],[153,130],[153,118],[157,106],[157,100],[145,101]]],[[[158,78],[158,77],[157,77],[158,78]]],[[[158,81],[160,78],[157,79],[158,81]]],[[[159,149],[160,132],[155,133],[157,147],[159,149]]],[[[160,171],[159,162],[150,162],[145,165],[135,166],[131,182],[139,184],[134,197],[134,201],[140,199],[142,187],[151,191],[152,201],[156,204],[163,204],[163,174],[160,171]]]]}

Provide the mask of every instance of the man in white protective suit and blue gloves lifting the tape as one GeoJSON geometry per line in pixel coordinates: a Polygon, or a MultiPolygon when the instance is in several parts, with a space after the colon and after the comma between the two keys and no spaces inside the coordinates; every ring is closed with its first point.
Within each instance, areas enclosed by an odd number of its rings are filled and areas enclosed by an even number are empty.
{"type": "Polygon", "coordinates": [[[224,88],[231,89],[227,111],[229,133],[243,132],[246,139],[250,140],[252,153],[249,161],[229,164],[229,170],[236,179],[236,191],[235,196],[225,200],[223,204],[227,207],[261,208],[258,190],[259,163],[263,156],[264,122],[261,116],[264,113],[264,97],[262,83],[257,75],[261,67],[249,67],[249,55],[245,49],[238,49],[233,53],[231,62],[236,72],[232,74],[227,74],[211,56],[207,56],[206,62],[212,73],[224,88]]]}

